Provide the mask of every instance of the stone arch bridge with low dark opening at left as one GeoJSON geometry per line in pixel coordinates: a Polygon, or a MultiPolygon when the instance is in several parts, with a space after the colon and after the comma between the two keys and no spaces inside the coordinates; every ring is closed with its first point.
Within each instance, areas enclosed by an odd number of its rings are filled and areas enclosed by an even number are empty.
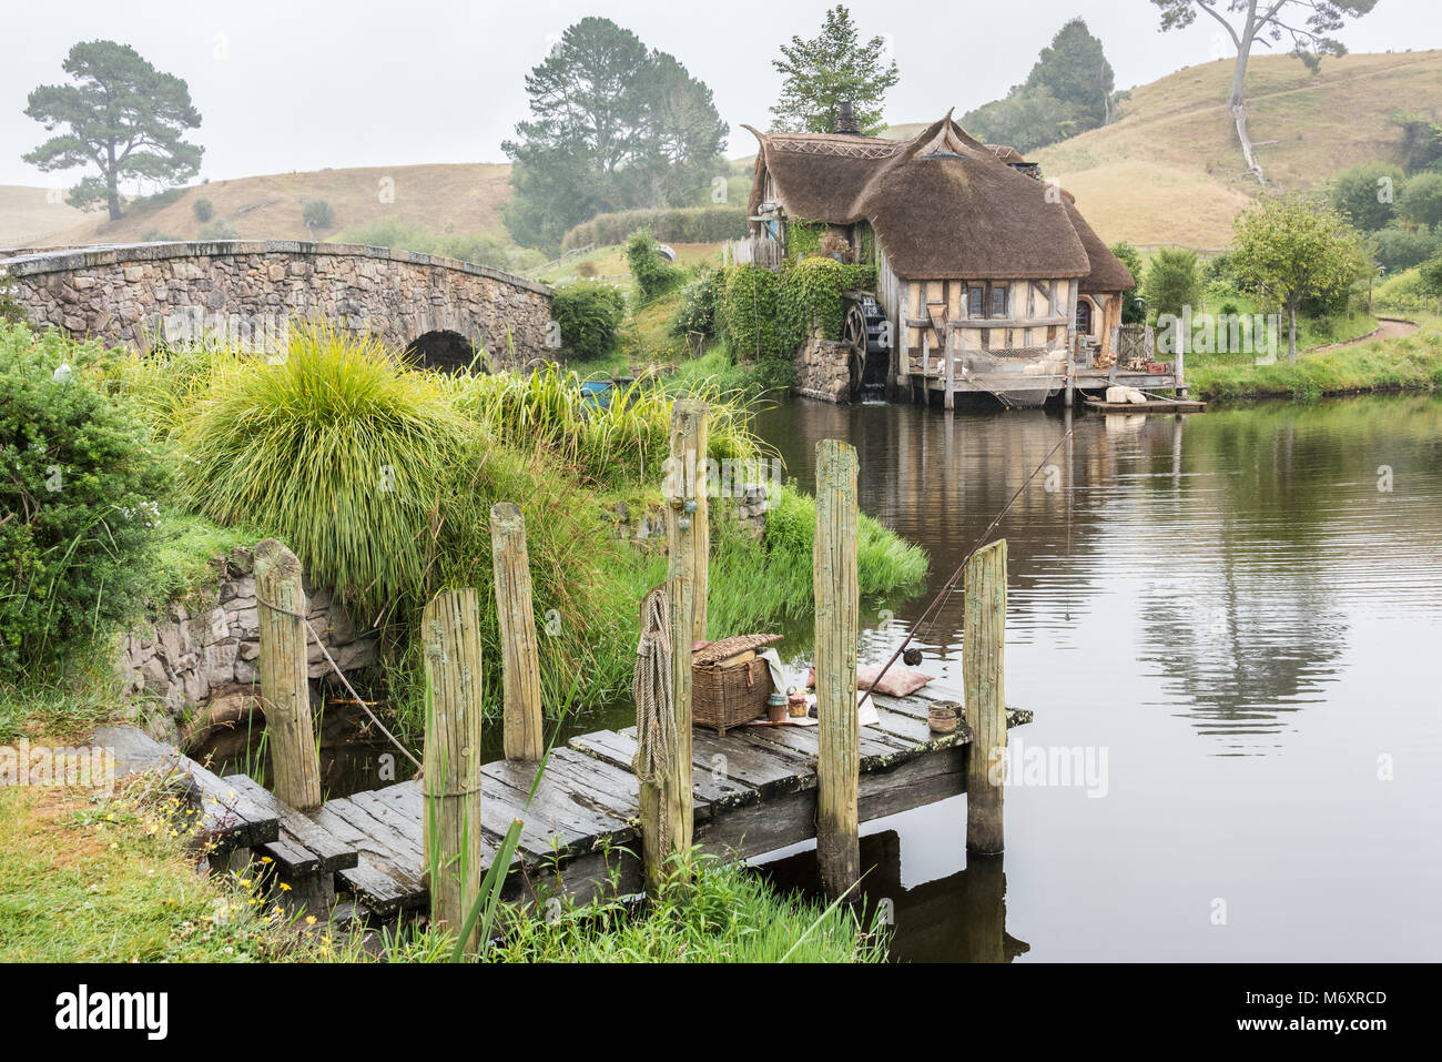
{"type": "Polygon", "coordinates": [[[288,240],[4,254],[0,270],[35,325],[107,343],[208,333],[275,349],[291,320],[323,319],[447,368],[474,346],[493,368],[557,354],[549,287],[456,258],[288,240]]]}

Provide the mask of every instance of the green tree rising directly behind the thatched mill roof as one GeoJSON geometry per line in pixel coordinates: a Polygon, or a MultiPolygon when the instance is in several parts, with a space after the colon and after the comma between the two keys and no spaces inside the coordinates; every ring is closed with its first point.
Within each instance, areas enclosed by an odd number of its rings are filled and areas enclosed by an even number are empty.
{"type": "Polygon", "coordinates": [[[883,101],[901,76],[895,59],[887,58],[885,39],[862,42],[845,4],[826,12],[818,36],[793,36],[782,45],[782,58],[771,59],[771,66],[783,78],[771,124],[796,133],[831,133],[844,102],[855,108],[862,133],[881,131],[883,101]]]}

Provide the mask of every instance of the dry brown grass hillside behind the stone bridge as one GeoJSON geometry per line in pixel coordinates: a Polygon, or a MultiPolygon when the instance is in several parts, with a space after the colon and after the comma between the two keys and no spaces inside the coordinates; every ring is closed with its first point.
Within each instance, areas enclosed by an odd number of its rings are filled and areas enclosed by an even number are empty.
{"type": "Polygon", "coordinates": [[[81,224],[52,229],[48,242],[130,242],[143,235],[196,240],[203,224],[195,203],[209,199],[211,224],[225,221],[245,240],[326,240],[358,225],[398,221],[433,232],[492,234],[505,237],[500,208],[510,196],[510,167],[499,164],[391,166],[375,169],[274,173],[262,177],[212,180],[196,185],[170,202],[133,203],[124,218],[111,222],[95,215],[81,224]],[[382,202],[389,180],[394,202],[382,202]],[[301,205],[324,199],[335,211],[335,225],[310,232],[301,205]]]}

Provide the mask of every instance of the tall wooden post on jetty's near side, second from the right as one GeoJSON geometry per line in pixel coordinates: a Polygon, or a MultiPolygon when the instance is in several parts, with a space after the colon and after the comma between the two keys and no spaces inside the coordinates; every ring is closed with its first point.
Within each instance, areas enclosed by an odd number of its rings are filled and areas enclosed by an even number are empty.
{"type": "Polygon", "coordinates": [[[861,874],[861,729],[857,713],[857,450],[816,444],[816,867],[832,898],[861,874]]]}

